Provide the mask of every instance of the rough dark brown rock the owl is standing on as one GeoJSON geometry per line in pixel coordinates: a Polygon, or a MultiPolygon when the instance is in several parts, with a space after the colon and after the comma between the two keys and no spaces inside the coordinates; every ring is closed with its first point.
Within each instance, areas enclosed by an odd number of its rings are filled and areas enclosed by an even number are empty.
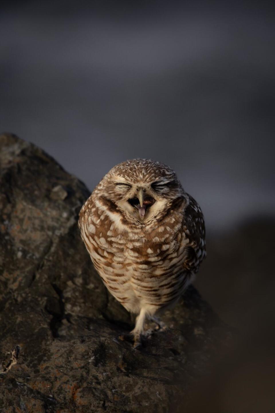
{"type": "Polygon", "coordinates": [[[15,135],[0,136],[0,162],[0,412],[183,411],[229,329],[189,287],[133,351],[80,239],[85,185],[15,135]]]}

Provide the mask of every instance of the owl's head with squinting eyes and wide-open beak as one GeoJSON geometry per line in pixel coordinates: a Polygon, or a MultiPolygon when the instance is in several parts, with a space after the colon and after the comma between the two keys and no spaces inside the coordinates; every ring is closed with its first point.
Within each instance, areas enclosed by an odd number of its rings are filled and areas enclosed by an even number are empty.
{"type": "Polygon", "coordinates": [[[114,166],[99,190],[128,221],[142,223],[160,217],[174,199],[184,194],[175,172],[151,159],[132,159],[114,166]]]}

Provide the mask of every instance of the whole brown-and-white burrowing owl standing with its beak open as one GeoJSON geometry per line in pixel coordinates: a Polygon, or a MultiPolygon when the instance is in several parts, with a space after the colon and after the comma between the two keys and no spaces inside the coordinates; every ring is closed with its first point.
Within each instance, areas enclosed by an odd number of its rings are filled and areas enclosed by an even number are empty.
{"type": "Polygon", "coordinates": [[[169,166],[133,159],[114,166],[80,211],[81,236],[111,294],[146,318],[176,303],[206,254],[201,209],[169,166]]]}

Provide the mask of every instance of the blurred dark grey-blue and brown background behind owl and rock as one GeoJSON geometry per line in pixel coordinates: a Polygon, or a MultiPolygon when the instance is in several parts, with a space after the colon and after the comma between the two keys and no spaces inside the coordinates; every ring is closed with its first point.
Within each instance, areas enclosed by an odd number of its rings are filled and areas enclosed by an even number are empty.
{"type": "Polygon", "coordinates": [[[219,397],[204,394],[217,412],[273,411],[257,379],[266,391],[274,361],[274,23],[271,2],[1,5],[1,131],[91,191],[121,161],[162,161],[201,205],[195,286],[240,338],[233,367],[212,375],[219,397]]]}

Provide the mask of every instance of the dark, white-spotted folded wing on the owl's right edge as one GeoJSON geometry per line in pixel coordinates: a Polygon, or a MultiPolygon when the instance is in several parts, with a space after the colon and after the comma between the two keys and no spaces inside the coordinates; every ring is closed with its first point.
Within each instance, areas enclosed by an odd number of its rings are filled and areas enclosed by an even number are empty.
{"type": "Polygon", "coordinates": [[[190,195],[189,205],[185,209],[183,232],[189,239],[188,253],[184,267],[193,273],[199,269],[200,263],[206,256],[204,218],[200,206],[190,195]]]}

